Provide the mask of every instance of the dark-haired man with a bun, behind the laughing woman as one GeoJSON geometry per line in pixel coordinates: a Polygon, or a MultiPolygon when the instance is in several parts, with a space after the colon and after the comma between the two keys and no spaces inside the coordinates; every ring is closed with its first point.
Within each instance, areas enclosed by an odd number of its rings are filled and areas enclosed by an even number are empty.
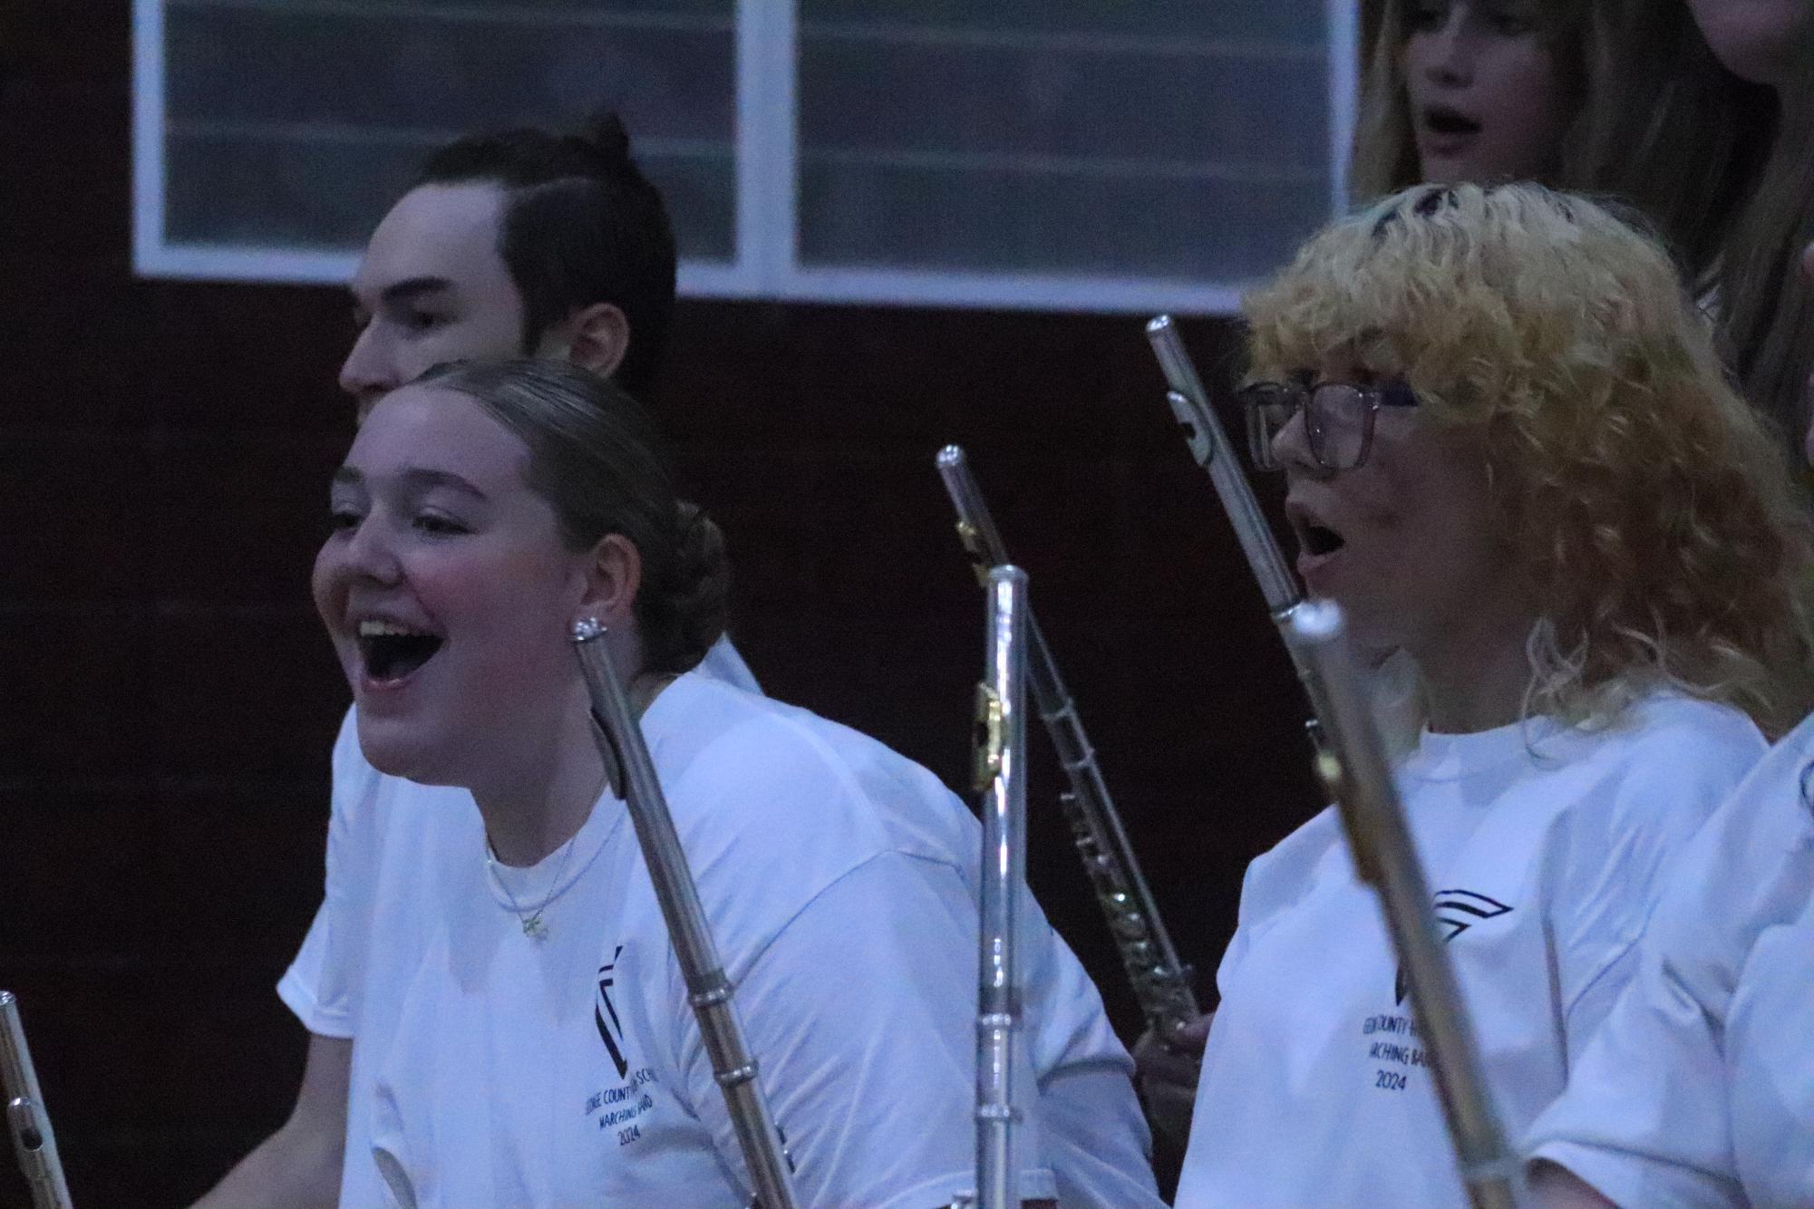
{"type": "MultiPolygon", "coordinates": [[[[532,355],[570,361],[644,395],[668,346],[673,301],[668,208],[631,158],[617,114],[600,112],[573,134],[470,134],[434,150],[372,232],[352,281],[357,337],[339,384],[363,421],[381,397],[439,363],[532,355]]],[[[760,691],[729,638],[707,651],[700,671],[760,691]]],[[[361,995],[363,968],[414,961],[428,926],[392,915],[374,928],[372,904],[386,892],[410,903],[395,894],[397,877],[483,843],[463,792],[375,808],[390,778],[365,765],[354,721],[348,711],[334,752],[330,836],[345,837],[345,856],[330,859],[327,901],[278,986],[310,1033],[303,1086],[288,1120],[203,1207],[339,1202],[343,1162],[350,1178],[359,1158],[357,1146],[346,1147],[348,1131],[365,1136],[368,1124],[370,1097],[359,1088],[375,1078],[394,1015],[361,995]],[[343,792],[346,778],[370,781],[374,792],[343,792]],[[339,924],[330,928],[336,904],[339,924]]]]}

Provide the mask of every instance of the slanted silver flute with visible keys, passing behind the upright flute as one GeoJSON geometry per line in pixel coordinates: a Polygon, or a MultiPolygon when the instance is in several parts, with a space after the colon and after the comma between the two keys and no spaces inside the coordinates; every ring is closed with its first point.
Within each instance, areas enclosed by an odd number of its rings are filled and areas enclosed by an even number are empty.
{"type": "MultiPolygon", "coordinates": [[[[954,444],[940,450],[938,473],[958,511],[958,537],[976,566],[978,580],[987,585],[990,567],[1007,564],[1009,553],[970,475],[963,450],[954,444]]],[[[1179,1030],[1201,1015],[1197,997],[1190,990],[1190,972],[1177,959],[1165,921],[1159,919],[1159,908],[1121,827],[1121,816],[1108,798],[1108,785],[1096,763],[1096,749],[1083,732],[1083,720],[1078,718],[1032,609],[1027,611],[1027,678],[1070,785],[1059,794],[1058,803],[1070,825],[1078,856],[1083,857],[1083,870],[1096,890],[1096,901],[1108,919],[1108,933],[1121,953],[1134,999],[1154,1035],[1172,1042],[1179,1030]]]]}

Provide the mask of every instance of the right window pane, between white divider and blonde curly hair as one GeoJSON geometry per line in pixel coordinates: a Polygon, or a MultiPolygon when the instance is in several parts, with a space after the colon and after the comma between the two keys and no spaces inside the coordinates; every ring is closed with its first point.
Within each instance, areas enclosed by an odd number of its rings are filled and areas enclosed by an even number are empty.
{"type": "Polygon", "coordinates": [[[1321,0],[802,0],[809,266],[1235,281],[1330,210],[1321,0]]]}

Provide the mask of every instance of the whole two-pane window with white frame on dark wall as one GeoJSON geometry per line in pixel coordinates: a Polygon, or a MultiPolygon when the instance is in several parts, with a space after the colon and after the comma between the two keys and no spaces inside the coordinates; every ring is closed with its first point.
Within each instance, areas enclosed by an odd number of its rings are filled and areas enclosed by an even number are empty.
{"type": "Polygon", "coordinates": [[[345,281],[424,152],[617,109],[688,294],[1226,310],[1341,207],[1353,0],[136,0],[147,276],[345,281]]]}

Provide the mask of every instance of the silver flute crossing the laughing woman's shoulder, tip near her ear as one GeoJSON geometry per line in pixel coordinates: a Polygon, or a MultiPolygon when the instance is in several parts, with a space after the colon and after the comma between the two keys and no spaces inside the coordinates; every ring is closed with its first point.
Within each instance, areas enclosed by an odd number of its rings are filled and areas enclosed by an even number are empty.
{"type": "Polygon", "coordinates": [[[655,778],[655,761],[642,741],[642,730],[629,711],[629,694],[611,665],[604,642],[606,627],[591,620],[573,625],[573,649],[586,674],[586,692],[591,698],[593,740],[604,756],[611,787],[622,794],[629,821],[637,828],[642,863],[649,868],[655,899],[668,924],[668,939],[675,946],[680,975],[686,979],[688,1002],[698,1019],[698,1033],[706,1042],[713,1075],[724,1093],[724,1104],[736,1129],[736,1144],[749,1167],[755,1189],[753,1205],[760,1209],[798,1209],[793,1167],[782,1146],[769,1102],[756,1078],[756,1060],[744,1042],[744,1030],[731,1002],[731,981],[718,961],[711,941],[706,910],[698,903],[698,888],[675,834],[668,798],[655,778]]]}

